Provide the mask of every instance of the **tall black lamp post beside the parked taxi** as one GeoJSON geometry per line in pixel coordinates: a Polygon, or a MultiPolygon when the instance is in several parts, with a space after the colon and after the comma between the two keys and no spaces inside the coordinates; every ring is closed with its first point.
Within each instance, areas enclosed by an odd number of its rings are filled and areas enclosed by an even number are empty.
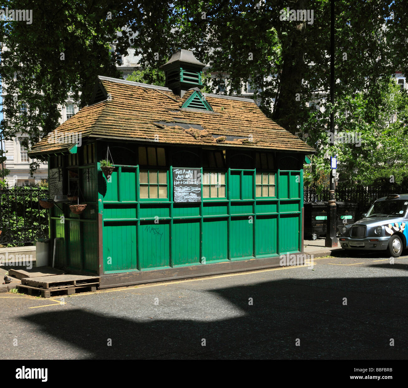
{"type": "MultiPolygon", "coordinates": [[[[335,8],[334,8],[335,0],[330,1],[330,103],[334,105],[334,88],[335,88],[335,77],[334,77],[334,39],[335,39],[335,8]]],[[[332,109],[330,113],[330,132],[332,136],[330,136],[330,148],[334,145],[334,111],[332,109]]],[[[330,163],[332,158],[330,158],[330,163]]],[[[331,165],[330,167],[333,168],[331,165]]],[[[336,166],[337,167],[337,166],[336,166]]],[[[335,169],[331,170],[332,172],[335,169]]],[[[335,248],[337,247],[337,225],[336,225],[336,194],[335,194],[335,183],[333,174],[330,174],[330,190],[329,190],[329,201],[327,205],[327,230],[326,230],[326,240],[325,246],[328,248],[335,248]]]]}

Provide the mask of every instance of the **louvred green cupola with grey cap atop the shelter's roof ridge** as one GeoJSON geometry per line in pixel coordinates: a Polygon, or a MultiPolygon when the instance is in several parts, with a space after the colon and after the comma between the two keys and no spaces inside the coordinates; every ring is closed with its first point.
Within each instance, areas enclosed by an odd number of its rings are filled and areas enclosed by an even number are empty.
{"type": "Polygon", "coordinates": [[[180,97],[191,88],[202,88],[201,74],[206,65],[197,60],[192,51],[175,52],[162,69],[166,74],[166,86],[180,97]]]}

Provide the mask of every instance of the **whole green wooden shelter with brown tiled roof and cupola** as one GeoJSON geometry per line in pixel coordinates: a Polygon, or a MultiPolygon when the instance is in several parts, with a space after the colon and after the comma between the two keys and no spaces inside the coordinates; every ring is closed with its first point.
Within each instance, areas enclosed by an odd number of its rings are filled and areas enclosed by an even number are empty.
{"type": "Polygon", "coordinates": [[[98,274],[103,288],[267,268],[302,252],[314,149],[253,100],[202,93],[204,66],[180,50],[163,66],[166,87],[100,76],[89,106],[32,147],[31,158],[49,158],[50,196],[71,198],[49,210],[56,267],[98,274]]]}

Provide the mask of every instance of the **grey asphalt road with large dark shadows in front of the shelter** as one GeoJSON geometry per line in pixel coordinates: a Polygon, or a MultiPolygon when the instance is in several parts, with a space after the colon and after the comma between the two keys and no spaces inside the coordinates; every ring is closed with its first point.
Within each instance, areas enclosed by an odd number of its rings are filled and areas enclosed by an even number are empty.
{"type": "Polygon", "coordinates": [[[0,357],[407,359],[408,256],[341,255],[313,270],[150,283],[64,304],[0,294],[0,357]]]}

